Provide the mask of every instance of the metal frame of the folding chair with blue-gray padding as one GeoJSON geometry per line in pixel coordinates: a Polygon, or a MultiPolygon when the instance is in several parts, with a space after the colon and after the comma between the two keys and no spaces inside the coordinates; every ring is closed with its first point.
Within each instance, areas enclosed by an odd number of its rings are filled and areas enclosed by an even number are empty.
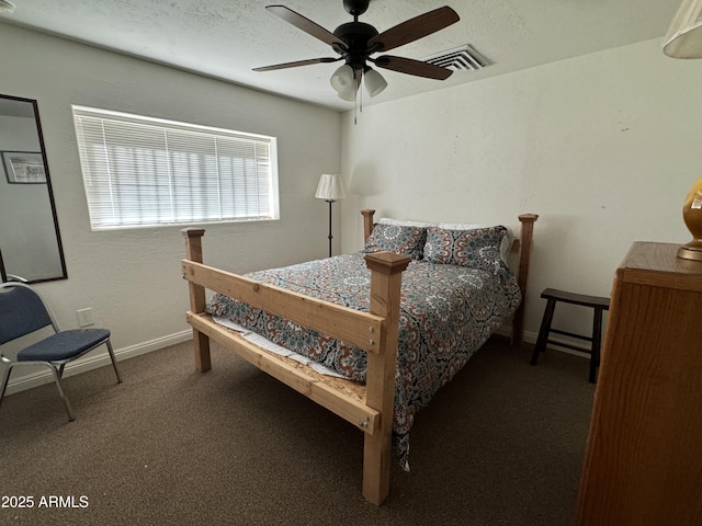
{"type": "MultiPolygon", "coordinates": [[[[59,332],[63,332],[58,329],[58,324],[56,323],[56,320],[54,318],[54,316],[52,315],[50,309],[47,307],[46,302],[44,301],[44,298],[42,298],[42,295],[39,295],[34,288],[30,287],[29,285],[25,285],[23,283],[18,283],[18,282],[11,282],[11,283],[3,283],[0,285],[0,294],[2,294],[2,289],[3,288],[13,288],[13,287],[24,287],[30,289],[33,294],[36,295],[36,297],[39,299],[46,315],[48,316],[48,319],[50,320],[50,323],[47,323],[44,327],[48,327],[49,324],[52,325],[54,333],[58,334],[59,332]]],[[[64,331],[66,332],[66,331],[64,331]]],[[[21,334],[10,341],[16,340],[18,338],[21,338],[23,335],[26,334],[31,334],[31,332],[27,332],[25,334],[21,334]]],[[[47,336],[50,338],[50,336],[47,336]]],[[[5,342],[5,343],[8,343],[5,342]]],[[[100,341],[98,341],[97,343],[94,343],[94,345],[92,345],[89,348],[83,350],[80,353],[77,353],[75,355],[71,355],[68,358],[64,358],[64,359],[55,359],[55,361],[12,361],[10,358],[8,358],[7,356],[4,356],[4,354],[2,354],[2,352],[0,351],[0,361],[2,362],[2,364],[5,366],[5,370],[4,374],[2,376],[2,384],[0,384],[0,407],[2,405],[2,399],[4,398],[4,393],[5,390],[8,388],[8,382],[10,381],[10,374],[12,373],[12,369],[14,367],[18,366],[46,366],[52,370],[52,375],[54,376],[54,381],[56,382],[56,388],[58,389],[58,395],[61,398],[64,405],[66,408],[66,412],[68,413],[68,420],[70,422],[72,422],[73,420],[76,420],[75,413],[73,413],[73,409],[70,404],[70,401],[68,400],[68,397],[66,396],[66,393],[64,392],[64,387],[61,385],[61,378],[64,376],[64,368],[66,367],[66,364],[69,362],[72,362],[73,359],[77,359],[81,356],[83,356],[84,354],[88,354],[89,352],[95,350],[97,347],[99,347],[100,345],[105,344],[107,347],[107,352],[110,353],[110,359],[112,361],[112,367],[114,368],[114,373],[115,376],[117,377],[117,384],[122,384],[122,377],[120,376],[120,369],[117,368],[117,361],[114,357],[114,351],[112,348],[112,343],[110,342],[110,333],[107,333],[107,335],[103,339],[101,339],[100,341]]]]}

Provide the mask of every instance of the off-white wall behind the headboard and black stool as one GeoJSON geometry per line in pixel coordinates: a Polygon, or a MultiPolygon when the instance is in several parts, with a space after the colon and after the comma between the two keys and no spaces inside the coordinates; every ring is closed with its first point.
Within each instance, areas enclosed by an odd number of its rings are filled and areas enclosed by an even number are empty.
{"type": "MultiPolygon", "coordinates": [[[[344,114],[342,250],[362,245],[361,208],[513,228],[539,214],[533,341],[543,288],[607,296],[633,241],[689,241],[701,91],[702,61],[667,58],[656,39],[365,107],[355,126],[344,114]]],[[[589,330],[590,312],[559,310],[562,325],[589,330]]]]}

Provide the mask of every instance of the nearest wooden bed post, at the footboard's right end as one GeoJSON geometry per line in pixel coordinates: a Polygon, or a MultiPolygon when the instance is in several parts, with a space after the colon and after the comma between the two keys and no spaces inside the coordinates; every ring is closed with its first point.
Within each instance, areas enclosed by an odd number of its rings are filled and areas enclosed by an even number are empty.
{"type": "Polygon", "coordinates": [[[365,433],[363,446],[363,496],[376,505],[385,500],[390,485],[400,285],[410,261],[390,252],[365,256],[371,270],[371,313],[385,318],[385,341],[380,342],[378,353],[367,353],[365,395],[365,403],[381,412],[380,426],[372,435],[365,433]]]}

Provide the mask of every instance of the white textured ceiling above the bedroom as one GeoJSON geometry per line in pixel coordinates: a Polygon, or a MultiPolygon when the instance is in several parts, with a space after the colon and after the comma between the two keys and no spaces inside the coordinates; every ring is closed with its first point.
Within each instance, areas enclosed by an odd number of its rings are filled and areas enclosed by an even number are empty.
{"type": "MultiPolygon", "coordinates": [[[[333,31],[352,20],[342,0],[276,0],[333,31]]],[[[316,38],[264,8],[265,0],[13,0],[1,23],[34,27],[238,84],[337,110],[329,77],[338,64],[254,72],[251,68],[336,56],[316,38]]],[[[461,21],[399,47],[393,55],[424,59],[472,44],[491,66],[420,79],[381,70],[388,88],[369,105],[578,55],[663,37],[680,0],[372,0],[362,22],[383,32],[449,4],[461,21]]]]}

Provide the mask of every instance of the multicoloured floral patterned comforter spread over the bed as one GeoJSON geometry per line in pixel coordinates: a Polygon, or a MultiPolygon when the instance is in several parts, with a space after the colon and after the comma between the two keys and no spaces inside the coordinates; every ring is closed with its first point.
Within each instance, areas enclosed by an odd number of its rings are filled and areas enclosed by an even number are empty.
{"type": "MultiPolygon", "coordinates": [[[[370,309],[371,272],[362,252],[310,261],[247,277],[356,310],[370,309]]],[[[417,411],[466,364],[514,312],[521,295],[513,273],[412,261],[403,273],[395,376],[393,447],[407,468],[417,411]]],[[[207,312],[225,317],[293,352],[358,381],[365,351],[215,295],[207,312]]]]}

